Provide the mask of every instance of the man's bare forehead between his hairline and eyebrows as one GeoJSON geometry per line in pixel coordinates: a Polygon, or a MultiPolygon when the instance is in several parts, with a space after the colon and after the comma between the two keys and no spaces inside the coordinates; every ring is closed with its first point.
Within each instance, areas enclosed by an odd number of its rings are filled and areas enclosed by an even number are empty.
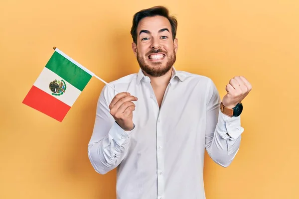
{"type": "Polygon", "coordinates": [[[149,30],[151,33],[158,32],[162,28],[168,28],[171,32],[169,20],[164,16],[148,16],[140,20],[137,26],[137,34],[141,30],[149,30]]]}

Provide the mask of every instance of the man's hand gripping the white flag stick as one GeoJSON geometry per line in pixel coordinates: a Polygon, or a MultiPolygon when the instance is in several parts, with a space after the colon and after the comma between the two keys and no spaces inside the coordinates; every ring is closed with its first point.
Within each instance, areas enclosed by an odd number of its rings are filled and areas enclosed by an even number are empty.
{"type": "Polygon", "coordinates": [[[132,101],[137,100],[136,97],[123,92],[117,94],[109,105],[110,114],[125,131],[133,129],[133,111],[135,110],[135,104],[132,101]]]}

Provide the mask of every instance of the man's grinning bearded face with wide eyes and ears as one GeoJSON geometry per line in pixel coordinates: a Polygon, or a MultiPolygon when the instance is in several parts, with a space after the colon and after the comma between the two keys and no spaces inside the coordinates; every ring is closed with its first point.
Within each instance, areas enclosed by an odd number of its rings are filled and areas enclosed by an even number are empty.
{"type": "Polygon", "coordinates": [[[152,77],[167,73],[176,59],[177,39],[163,16],[143,18],[137,27],[137,44],[132,44],[140,68],[152,77]]]}

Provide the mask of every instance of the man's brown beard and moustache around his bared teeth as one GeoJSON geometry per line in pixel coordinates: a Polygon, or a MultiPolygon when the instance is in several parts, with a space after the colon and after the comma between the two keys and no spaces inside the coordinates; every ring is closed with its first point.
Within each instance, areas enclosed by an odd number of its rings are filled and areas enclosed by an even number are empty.
{"type": "Polygon", "coordinates": [[[146,60],[142,57],[141,54],[139,54],[137,50],[137,61],[139,63],[140,68],[145,71],[148,75],[151,77],[160,77],[162,75],[165,75],[173,66],[176,56],[175,56],[175,51],[173,49],[172,54],[167,54],[166,52],[162,51],[161,49],[158,50],[150,50],[147,54],[146,57],[149,57],[150,54],[152,53],[163,53],[165,57],[167,56],[168,61],[166,64],[163,66],[161,62],[154,62],[152,63],[152,67],[146,64],[146,60]]]}

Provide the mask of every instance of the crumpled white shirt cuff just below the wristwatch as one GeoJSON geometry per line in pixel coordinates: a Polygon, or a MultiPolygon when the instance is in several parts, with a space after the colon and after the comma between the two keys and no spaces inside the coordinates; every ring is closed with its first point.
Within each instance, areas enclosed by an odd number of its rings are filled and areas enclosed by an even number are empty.
{"type": "Polygon", "coordinates": [[[218,117],[218,127],[220,129],[219,134],[224,139],[237,139],[244,131],[244,128],[241,126],[240,115],[237,117],[229,117],[223,114],[220,110],[218,117]],[[228,133],[229,135],[227,135],[226,133],[228,133]]]}

